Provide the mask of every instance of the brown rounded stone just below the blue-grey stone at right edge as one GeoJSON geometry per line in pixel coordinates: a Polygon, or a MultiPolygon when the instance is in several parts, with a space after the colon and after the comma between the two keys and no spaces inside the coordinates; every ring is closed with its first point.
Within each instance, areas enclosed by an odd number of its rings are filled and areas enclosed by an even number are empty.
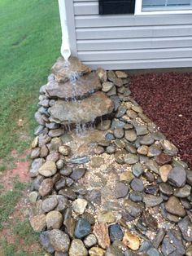
{"type": "Polygon", "coordinates": [[[185,209],[181,202],[176,196],[170,196],[168,201],[165,203],[165,209],[169,214],[177,215],[179,217],[185,216],[185,209]]]}

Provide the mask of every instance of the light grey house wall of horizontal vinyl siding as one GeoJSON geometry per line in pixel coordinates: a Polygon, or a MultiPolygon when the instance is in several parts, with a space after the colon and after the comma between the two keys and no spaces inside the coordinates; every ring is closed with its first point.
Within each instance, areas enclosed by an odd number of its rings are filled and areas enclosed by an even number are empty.
{"type": "Polygon", "coordinates": [[[98,15],[66,0],[72,54],[96,69],[192,67],[192,15],[98,15]]]}

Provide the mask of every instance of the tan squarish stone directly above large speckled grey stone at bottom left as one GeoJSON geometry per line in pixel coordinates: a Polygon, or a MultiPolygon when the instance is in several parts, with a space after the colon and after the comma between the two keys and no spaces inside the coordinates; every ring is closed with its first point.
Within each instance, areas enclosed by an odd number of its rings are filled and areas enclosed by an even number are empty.
{"type": "Polygon", "coordinates": [[[59,229],[63,224],[63,215],[58,210],[46,214],[47,229],[59,229]]]}

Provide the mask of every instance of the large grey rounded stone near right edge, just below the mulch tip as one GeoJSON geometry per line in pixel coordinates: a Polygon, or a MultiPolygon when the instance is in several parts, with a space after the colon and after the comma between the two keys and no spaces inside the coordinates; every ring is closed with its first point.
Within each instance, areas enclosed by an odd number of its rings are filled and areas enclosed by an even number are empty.
{"type": "Polygon", "coordinates": [[[185,170],[181,167],[174,167],[169,171],[168,182],[176,187],[183,187],[186,182],[185,170]]]}

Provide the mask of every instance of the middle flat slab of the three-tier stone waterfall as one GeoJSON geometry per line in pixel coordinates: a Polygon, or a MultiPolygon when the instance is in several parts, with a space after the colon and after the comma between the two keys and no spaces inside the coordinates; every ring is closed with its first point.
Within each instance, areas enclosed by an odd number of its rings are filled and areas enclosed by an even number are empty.
{"type": "Polygon", "coordinates": [[[79,77],[76,82],[49,82],[46,86],[48,95],[58,97],[59,99],[81,99],[94,91],[102,88],[99,78],[96,73],[89,73],[83,77],[79,77]]]}

